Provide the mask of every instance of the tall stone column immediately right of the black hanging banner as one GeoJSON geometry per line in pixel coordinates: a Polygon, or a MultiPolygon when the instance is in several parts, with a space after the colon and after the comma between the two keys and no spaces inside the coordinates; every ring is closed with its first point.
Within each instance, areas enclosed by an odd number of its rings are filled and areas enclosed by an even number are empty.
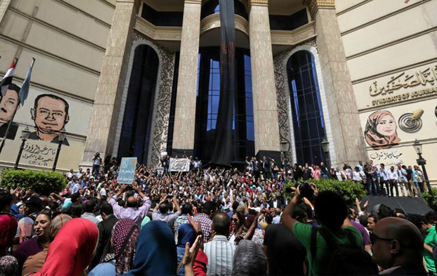
{"type": "Polygon", "coordinates": [[[279,124],[268,0],[249,0],[255,153],[280,161],[279,124]]]}

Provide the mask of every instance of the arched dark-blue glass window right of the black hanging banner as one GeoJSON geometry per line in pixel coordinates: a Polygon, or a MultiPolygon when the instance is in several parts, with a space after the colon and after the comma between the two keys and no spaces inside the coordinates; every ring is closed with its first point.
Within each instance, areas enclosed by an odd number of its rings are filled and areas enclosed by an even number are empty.
{"type": "Polygon", "coordinates": [[[291,113],[299,164],[325,161],[321,142],[326,137],[314,56],[298,51],[287,62],[291,113]]]}

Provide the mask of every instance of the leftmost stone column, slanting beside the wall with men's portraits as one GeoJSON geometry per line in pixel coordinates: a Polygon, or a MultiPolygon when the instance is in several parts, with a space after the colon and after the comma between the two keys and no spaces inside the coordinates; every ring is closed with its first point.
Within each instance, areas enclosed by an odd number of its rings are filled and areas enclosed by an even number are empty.
{"type": "Polygon", "coordinates": [[[140,0],[117,0],[81,166],[90,166],[96,152],[102,159],[112,153],[139,5],[140,0]]]}

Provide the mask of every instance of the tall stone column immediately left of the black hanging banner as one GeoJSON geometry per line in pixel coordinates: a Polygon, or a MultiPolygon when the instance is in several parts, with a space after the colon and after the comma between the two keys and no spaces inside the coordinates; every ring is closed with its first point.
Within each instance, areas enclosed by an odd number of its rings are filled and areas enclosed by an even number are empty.
{"type": "Polygon", "coordinates": [[[192,155],[194,149],[201,3],[184,3],[172,155],[192,155]]]}

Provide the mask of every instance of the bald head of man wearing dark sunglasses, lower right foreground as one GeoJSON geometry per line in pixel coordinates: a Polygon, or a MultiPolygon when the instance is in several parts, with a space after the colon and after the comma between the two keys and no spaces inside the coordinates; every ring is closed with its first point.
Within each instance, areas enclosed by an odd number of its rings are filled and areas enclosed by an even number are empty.
{"type": "Polygon", "coordinates": [[[406,219],[386,217],[379,220],[373,229],[371,240],[373,259],[383,269],[421,263],[422,235],[406,219]]]}

